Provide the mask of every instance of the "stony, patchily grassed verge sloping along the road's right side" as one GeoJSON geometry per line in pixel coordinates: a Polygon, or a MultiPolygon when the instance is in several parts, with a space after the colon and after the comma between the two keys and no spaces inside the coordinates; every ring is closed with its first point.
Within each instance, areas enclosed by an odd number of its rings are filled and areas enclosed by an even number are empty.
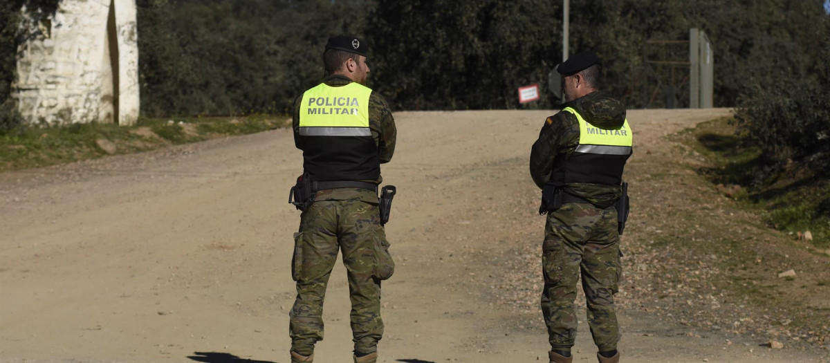
{"type": "Polygon", "coordinates": [[[653,280],[638,282],[637,288],[663,287],[648,308],[681,324],[777,339],[787,346],[830,348],[830,275],[824,269],[830,260],[830,213],[819,208],[828,206],[826,182],[794,163],[785,172],[772,172],[781,164],[765,159],[745,135],[735,133],[728,118],[669,138],[675,142],[671,152],[681,159],[669,159],[676,164],[666,164],[671,165],[666,170],[652,166],[638,182],[685,191],[674,197],[641,196],[642,213],[652,218],[652,226],[639,232],[642,237],[636,230],[630,236],[648,241],[646,249],[635,250],[640,252],[635,258],[647,266],[644,271],[654,270],[653,280]],[[683,177],[693,172],[703,178],[683,177]],[[797,232],[805,230],[813,241],[797,240],[797,232]],[[780,275],[790,269],[796,274],[780,275]]]}

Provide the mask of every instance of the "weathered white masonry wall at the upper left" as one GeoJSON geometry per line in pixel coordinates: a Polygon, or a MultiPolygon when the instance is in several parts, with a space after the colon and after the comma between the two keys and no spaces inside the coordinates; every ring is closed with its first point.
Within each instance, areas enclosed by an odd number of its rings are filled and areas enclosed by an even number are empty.
{"type": "Polygon", "coordinates": [[[19,49],[14,88],[21,114],[30,123],[134,123],[139,116],[135,13],[134,0],[62,0],[51,35],[19,49]],[[110,3],[119,43],[117,98],[107,35],[110,3]]]}

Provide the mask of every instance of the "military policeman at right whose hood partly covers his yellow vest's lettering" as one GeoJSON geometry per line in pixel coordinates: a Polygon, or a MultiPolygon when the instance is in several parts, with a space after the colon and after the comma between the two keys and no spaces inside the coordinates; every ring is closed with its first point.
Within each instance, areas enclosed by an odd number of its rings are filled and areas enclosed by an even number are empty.
{"type": "Polygon", "coordinates": [[[614,294],[620,278],[618,213],[623,167],[632,152],[626,109],[599,90],[602,65],[590,51],[559,65],[565,103],[547,118],[530,152],[530,176],[547,214],[542,314],[551,363],[573,361],[574,299],[582,277],[588,326],[601,363],[619,361],[614,294]]]}

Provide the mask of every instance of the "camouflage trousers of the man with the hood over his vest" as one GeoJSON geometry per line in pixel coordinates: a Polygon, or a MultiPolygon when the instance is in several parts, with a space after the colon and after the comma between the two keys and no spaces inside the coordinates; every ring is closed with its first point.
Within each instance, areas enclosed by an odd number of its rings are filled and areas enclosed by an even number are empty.
{"type": "Polygon", "coordinates": [[[620,338],[614,294],[620,278],[617,211],[567,203],[548,214],[542,246],[542,314],[550,346],[570,351],[576,340],[577,281],[588,305],[588,326],[599,351],[617,349],[620,338]]]}

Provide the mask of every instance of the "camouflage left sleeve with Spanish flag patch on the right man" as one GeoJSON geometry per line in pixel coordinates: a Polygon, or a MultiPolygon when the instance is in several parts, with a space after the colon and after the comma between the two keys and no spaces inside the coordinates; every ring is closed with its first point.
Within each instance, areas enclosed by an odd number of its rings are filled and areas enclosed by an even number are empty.
{"type": "Polygon", "coordinates": [[[544,121],[539,138],[530,148],[530,177],[540,188],[550,179],[554,159],[573,152],[579,143],[579,122],[573,114],[559,112],[544,121]]]}

